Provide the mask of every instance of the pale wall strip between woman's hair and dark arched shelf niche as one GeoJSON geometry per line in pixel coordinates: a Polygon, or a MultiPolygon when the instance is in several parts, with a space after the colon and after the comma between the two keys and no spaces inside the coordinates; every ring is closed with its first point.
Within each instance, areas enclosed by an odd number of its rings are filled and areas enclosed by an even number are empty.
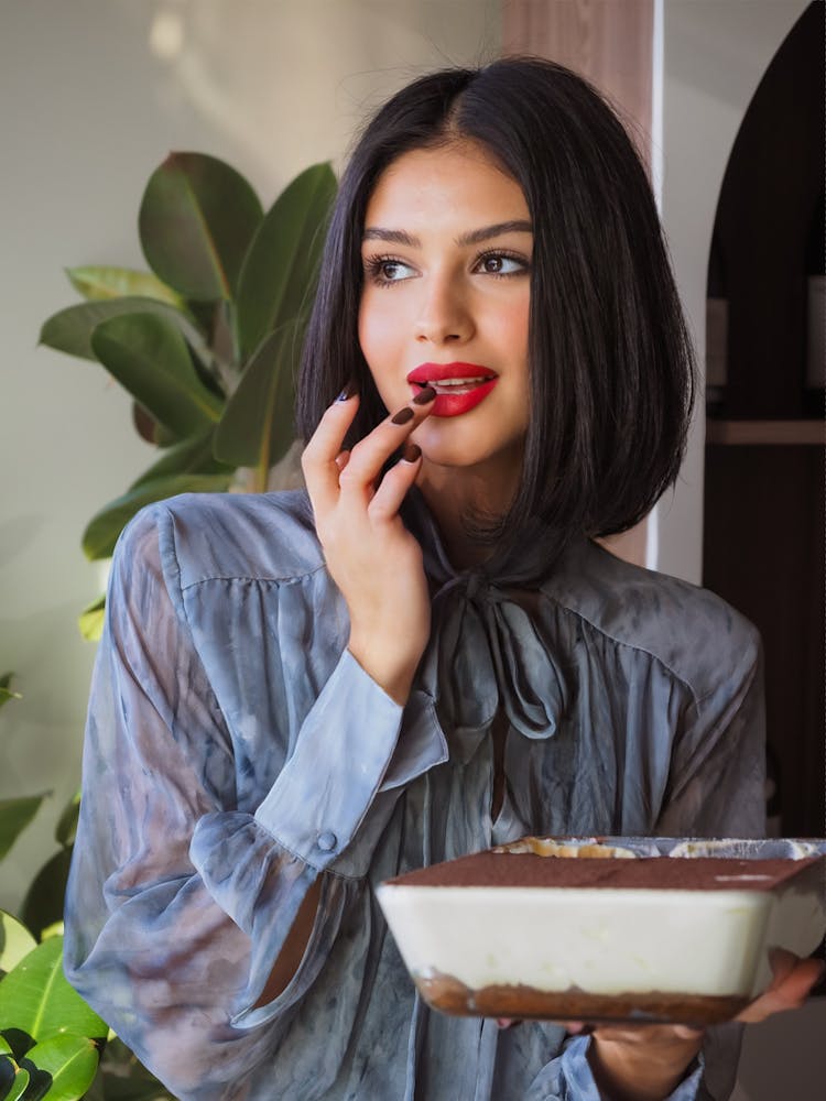
{"type": "MultiPolygon", "coordinates": [[[[708,252],[722,176],[754,89],[807,0],[657,2],[662,18],[661,210],[702,362],[708,252]]],[[[657,504],[653,517],[656,568],[695,582],[700,580],[703,565],[704,445],[700,394],[677,487],[657,504]]]]}

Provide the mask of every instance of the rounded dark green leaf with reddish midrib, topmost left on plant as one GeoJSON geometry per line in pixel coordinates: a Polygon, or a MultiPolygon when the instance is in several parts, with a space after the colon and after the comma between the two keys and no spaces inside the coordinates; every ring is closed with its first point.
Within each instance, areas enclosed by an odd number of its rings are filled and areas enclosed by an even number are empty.
{"type": "Polygon", "coordinates": [[[143,193],[139,227],[152,271],[186,298],[232,298],[263,210],[235,168],[202,153],[171,153],[143,193]]]}

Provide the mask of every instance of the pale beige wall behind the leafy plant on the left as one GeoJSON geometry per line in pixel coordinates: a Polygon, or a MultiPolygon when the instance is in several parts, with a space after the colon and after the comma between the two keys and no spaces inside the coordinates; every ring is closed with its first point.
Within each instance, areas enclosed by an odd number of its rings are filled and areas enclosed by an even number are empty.
{"type": "Polygon", "coordinates": [[[0,798],[54,797],[0,864],[14,909],[79,780],[101,590],[85,522],[149,465],[102,369],[36,348],[62,269],[143,266],[143,186],[171,149],[228,160],[269,204],[339,163],[366,108],[420,70],[496,56],[498,0],[0,0],[0,798]],[[153,53],[150,40],[161,56],[153,53]],[[176,42],[180,40],[180,50],[176,42]]]}

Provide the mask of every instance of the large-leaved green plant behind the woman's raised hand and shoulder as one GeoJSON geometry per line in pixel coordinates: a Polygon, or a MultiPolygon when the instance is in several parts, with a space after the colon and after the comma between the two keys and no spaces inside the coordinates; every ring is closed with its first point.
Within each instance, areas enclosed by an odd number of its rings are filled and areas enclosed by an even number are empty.
{"type": "MultiPolygon", "coordinates": [[[[151,272],[68,271],[86,302],[50,317],[41,342],[101,363],[134,399],[141,434],[162,448],[89,521],[87,557],[109,557],[152,501],[231,483],[268,488],[293,443],[294,373],[335,192],[330,166],[317,164],[264,214],[222,161],[172,153],[141,201],[151,272]]],[[[96,633],[101,608],[87,609],[85,633],[96,633]]]]}

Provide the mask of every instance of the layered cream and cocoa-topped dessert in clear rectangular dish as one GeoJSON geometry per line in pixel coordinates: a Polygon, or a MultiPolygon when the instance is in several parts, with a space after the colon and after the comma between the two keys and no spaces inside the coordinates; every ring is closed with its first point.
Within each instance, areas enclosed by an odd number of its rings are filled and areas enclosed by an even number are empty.
{"type": "Polygon", "coordinates": [[[826,842],[523,838],[409,872],[379,902],[447,1013],[711,1024],[826,930],[826,842]],[[736,854],[733,854],[736,853],[736,854]]]}

